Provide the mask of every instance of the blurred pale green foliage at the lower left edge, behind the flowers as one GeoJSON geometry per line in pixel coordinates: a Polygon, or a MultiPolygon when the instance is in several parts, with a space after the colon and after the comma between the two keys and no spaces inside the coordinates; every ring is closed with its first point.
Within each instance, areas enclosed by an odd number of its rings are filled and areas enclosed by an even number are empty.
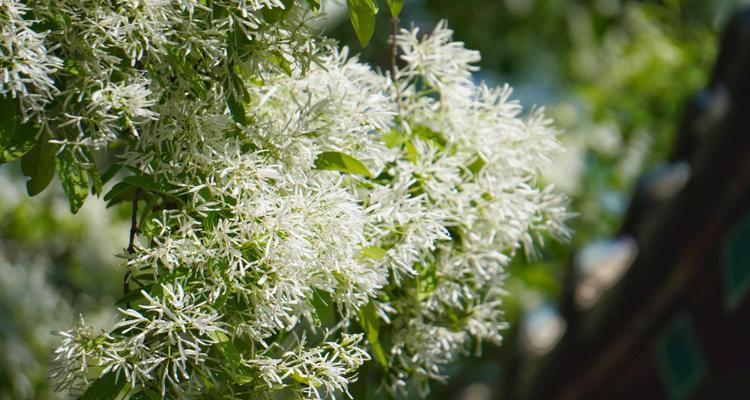
{"type": "Polygon", "coordinates": [[[57,399],[52,349],[79,313],[97,326],[114,316],[127,241],[127,210],[89,201],[71,214],[60,190],[30,198],[18,162],[0,168],[0,399],[57,399]]]}

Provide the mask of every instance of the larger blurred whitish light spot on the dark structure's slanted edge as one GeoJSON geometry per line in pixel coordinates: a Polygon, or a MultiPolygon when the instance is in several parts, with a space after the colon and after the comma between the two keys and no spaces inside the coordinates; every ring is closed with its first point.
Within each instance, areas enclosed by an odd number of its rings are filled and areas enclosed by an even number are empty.
{"type": "Polygon", "coordinates": [[[576,304],[581,309],[594,305],[630,268],[638,254],[631,237],[601,240],[586,245],[576,255],[576,304]]]}

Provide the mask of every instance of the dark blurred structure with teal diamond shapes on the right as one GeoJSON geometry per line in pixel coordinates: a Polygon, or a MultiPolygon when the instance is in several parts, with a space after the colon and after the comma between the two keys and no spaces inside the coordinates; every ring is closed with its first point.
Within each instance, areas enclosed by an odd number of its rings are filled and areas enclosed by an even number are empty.
{"type": "Polygon", "coordinates": [[[564,334],[543,357],[511,363],[500,398],[750,398],[750,9],[728,24],[710,84],[679,126],[609,257],[571,266],[564,334]],[[582,303],[591,273],[581,271],[617,263],[623,240],[637,246],[632,263],[582,303]]]}

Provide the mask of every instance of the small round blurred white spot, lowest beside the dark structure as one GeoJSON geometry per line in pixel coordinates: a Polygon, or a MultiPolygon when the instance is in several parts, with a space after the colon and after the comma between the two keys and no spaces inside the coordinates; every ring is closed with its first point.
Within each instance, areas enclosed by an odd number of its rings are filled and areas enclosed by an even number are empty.
{"type": "Polygon", "coordinates": [[[565,320],[549,305],[540,305],[525,316],[521,325],[524,349],[531,356],[540,356],[557,344],[565,333],[565,320]]]}

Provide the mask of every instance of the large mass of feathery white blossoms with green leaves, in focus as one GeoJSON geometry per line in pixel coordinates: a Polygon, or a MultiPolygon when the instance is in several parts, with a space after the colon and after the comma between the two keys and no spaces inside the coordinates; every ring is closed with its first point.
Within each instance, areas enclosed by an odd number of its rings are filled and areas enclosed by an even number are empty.
{"type": "Polygon", "coordinates": [[[509,258],[567,235],[565,199],[536,185],[549,121],[475,85],[444,23],[402,31],[384,76],[311,35],[306,2],[272,22],[289,2],[26,3],[0,3],[2,94],[54,98],[21,107],[83,163],[126,144],[112,191],[140,204],[119,319],[61,333],[61,389],[333,398],[369,361],[426,393],[501,340],[509,258]],[[52,26],[33,79],[6,62],[30,10],[52,26]]]}

